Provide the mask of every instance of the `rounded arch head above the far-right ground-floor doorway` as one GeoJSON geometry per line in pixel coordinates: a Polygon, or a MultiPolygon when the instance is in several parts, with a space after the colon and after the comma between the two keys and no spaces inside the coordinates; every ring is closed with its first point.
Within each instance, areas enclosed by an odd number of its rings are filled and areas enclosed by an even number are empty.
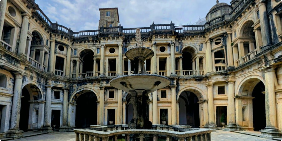
{"type": "MultiPolygon", "coordinates": [[[[236,93],[235,95],[239,95],[239,94],[242,94],[243,92],[243,88],[244,86],[246,86],[246,84],[250,81],[253,81],[253,83],[257,84],[259,83],[259,81],[262,81],[265,85],[265,81],[264,81],[264,78],[262,76],[259,76],[259,75],[252,75],[252,76],[248,76],[246,78],[244,78],[238,85],[238,88],[236,90],[236,93]]],[[[255,85],[252,85],[252,87],[249,89],[248,91],[248,95],[251,91],[253,91],[253,88],[254,88],[255,85]]]]}

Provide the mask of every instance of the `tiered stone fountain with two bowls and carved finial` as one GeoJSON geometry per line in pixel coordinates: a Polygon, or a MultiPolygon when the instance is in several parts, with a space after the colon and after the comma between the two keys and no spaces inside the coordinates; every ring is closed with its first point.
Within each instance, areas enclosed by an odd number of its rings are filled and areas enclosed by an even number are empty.
{"type": "Polygon", "coordinates": [[[148,94],[170,85],[170,80],[164,76],[146,72],[144,61],[152,58],[154,51],[142,47],[140,29],[136,29],[136,47],[128,50],[125,56],[134,62],[133,73],[114,78],[110,81],[110,85],[131,94],[133,119],[128,122],[128,128],[151,129],[152,123],[146,116],[148,94]]]}

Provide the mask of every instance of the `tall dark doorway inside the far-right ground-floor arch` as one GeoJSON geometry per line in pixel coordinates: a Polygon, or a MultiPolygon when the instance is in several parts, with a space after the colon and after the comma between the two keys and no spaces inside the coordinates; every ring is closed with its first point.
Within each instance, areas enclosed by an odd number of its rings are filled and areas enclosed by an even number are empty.
{"type": "Polygon", "coordinates": [[[253,89],[253,130],[259,131],[266,127],[264,83],[260,81],[253,89]]]}

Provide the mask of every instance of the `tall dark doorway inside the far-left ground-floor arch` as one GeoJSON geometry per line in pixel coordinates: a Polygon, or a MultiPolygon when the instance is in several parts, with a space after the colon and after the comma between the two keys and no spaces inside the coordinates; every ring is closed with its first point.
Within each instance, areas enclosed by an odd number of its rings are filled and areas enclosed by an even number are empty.
{"type": "Polygon", "coordinates": [[[21,111],[20,111],[20,122],[19,128],[20,130],[27,132],[29,127],[29,91],[27,88],[23,88],[22,90],[22,99],[21,99],[21,111]]]}

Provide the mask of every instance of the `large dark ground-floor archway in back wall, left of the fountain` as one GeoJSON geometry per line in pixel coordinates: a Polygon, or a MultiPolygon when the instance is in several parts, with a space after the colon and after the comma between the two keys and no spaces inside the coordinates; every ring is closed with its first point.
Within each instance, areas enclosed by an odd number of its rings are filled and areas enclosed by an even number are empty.
{"type": "Polygon", "coordinates": [[[76,128],[97,125],[97,97],[93,92],[81,94],[76,100],[76,128]]]}

